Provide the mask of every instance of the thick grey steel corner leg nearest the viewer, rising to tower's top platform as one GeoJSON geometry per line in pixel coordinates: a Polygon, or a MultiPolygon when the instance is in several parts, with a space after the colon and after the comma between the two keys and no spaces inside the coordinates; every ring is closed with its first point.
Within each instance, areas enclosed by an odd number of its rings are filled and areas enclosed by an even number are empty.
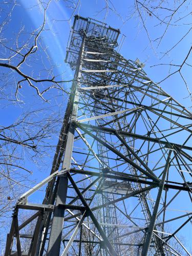
{"type": "MultiPolygon", "coordinates": [[[[62,163],[62,169],[70,170],[71,167],[71,157],[73,151],[73,142],[74,142],[74,133],[75,127],[73,125],[73,121],[76,120],[77,111],[78,111],[78,87],[79,87],[79,79],[81,77],[82,70],[82,57],[84,51],[84,40],[82,41],[81,52],[79,54],[79,68],[75,74],[74,80],[77,80],[76,87],[74,90],[74,98],[73,98],[73,108],[69,110],[69,114],[71,115],[71,122],[69,124],[69,130],[67,135],[67,143],[65,156],[62,163]]],[[[68,189],[68,177],[65,175],[63,177],[59,177],[58,181],[58,189],[56,195],[56,205],[53,212],[53,222],[51,227],[51,233],[49,238],[48,245],[48,256],[59,256],[60,254],[60,245],[61,245],[61,237],[62,237],[62,229],[63,229],[63,221],[65,210],[61,207],[59,208],[59,204],[66,204],[67,198],[67,189],[68,189]]]]}

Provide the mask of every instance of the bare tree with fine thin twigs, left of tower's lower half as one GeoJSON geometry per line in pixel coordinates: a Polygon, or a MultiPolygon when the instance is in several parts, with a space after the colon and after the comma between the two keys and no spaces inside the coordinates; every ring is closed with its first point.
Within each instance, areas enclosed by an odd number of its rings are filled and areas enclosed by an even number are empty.
{"type": "Polygon", "coordinates": [[[32,180],[33,169],[25,167],[28,166],[26,162],[32,161],[40,167],[50,150],[54,152],[53,137],[58,133],[59,117],[52,113],[53,118],[50,113],[43,118],[44,111],[24,113],[11,125],[0,126],[1,217],[10,216],[18,196],[35,182],[32,180]]]}

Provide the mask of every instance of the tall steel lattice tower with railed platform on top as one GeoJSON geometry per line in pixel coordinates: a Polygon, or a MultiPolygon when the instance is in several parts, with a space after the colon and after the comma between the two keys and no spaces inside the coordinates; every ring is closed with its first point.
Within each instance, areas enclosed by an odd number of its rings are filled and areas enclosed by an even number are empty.
{"type": "Polygon", "coordinates": [[[5,255],[190,255],[178,232],[192,219],[191,113],[118,53],[119,34],[75,16],[51,174],[18,200],[5,255]],[[19,223],[20,209],[35,213],[19,223]]]}

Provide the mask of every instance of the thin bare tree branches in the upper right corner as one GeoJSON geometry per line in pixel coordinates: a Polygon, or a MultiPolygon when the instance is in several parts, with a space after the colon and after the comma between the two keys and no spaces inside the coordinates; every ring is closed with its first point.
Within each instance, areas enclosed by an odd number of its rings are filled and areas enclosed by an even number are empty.
{"type": "Polygon", "coordinates": [[[136,20],[138,31],[144,30],[149,45],[159,58],[159,63],[151,65],[151,67],[158,67],[159,69],[159,66],[167,67],[167,74],[164,74],[158,83],[179,74],[181,83],[187,90],[187,97],[192,100],[191,85],[187,79],[187,71],[190,73],[192,67],[190,64],[192,50],[190,42],[188,42],[187,48],[181,50],[181,44],[185,40],[189,40],[192,32],[191,1],[135,0],[129,3],[124,2],[123,5],[126,11],[122,14],[115,1],[104,0],[103,8],[97,13],[103,12],[103,19],[105,20],[110,12],[113,12],[121,19],[122,24],[126,24],[129,20],[136,20]],[[174,34],[173,38],[170,37],[171,34],[174,34]],[[171,38],[168,41],[169,44],[166,41],[167,36],[171,38]],[[172,57],[172,60],[168,61],[167,57],[172,56],[171,54],[175,49],[178,49],[179,52],[182,51],[181,60],[176,62],[175,58],[172,57]],[[163,62],[164,59],[167,62],[163,62]]]}

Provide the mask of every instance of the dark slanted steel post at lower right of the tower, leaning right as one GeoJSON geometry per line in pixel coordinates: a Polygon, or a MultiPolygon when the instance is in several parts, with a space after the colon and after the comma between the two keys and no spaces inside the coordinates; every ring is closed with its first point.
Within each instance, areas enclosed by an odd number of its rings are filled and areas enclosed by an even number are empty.
{"type": "Polygon", "coordinates": [[[162,195],[162,191],[163,191],[163,187],[164,187],[164,183],[165,183],[165,178],[166,178],[166,174],[169,168],[169,161],[170,161],[170,155],[172,154],[172,151],[169,150],[168,156],[167,156],[167,160],[166,160],[166,164],[165,164],[165,168],[163,171],[163,176],[162,179],[159,183],[159,191],[158,191],[158,195],[157,195],[157,199],[156,199],[156,203],[155,203],[155,207],[153,210],[153,215],[151,218],[151,222],[150,225],[147,228],[146,231],[146,238],[145,238],[145,242],[143,244],[143,249],[142,249],[142,256],[146,256],[148,253],[148,248],[150,248],[150,244],[151,244],[151,240],[152,240],[152,235],[153,235],[153,230],[154,230],[154,226],[155,226],[155,222],[156,222],[156,218],[157,218],[157,212],[158,212],[158,208],[159,208],[159,204],[160,204],[160,200],[161,200],[161,195],[162,195]]]}

